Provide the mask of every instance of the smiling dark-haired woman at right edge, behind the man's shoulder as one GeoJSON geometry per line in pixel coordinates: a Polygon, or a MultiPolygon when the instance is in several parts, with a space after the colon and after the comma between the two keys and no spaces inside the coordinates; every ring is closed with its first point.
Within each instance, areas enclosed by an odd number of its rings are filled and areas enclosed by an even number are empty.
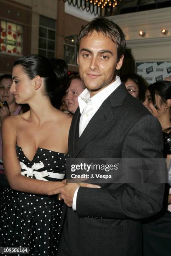
{"type": "MultiPolygon", "coordinates": [[[[145,92],[143,105],[154,115],[163,130],[163,154],[167,164],[171,161],[171,82],[158,81],[145,92]]],[[[168,177],[171,186],[171,176],[168,177]],[[170,178],[170,179],[169,179],[170,178]]],[[[143,225],[144,256],[171,255],[171,189],[166,184],[163,210],[143,225]]]]}

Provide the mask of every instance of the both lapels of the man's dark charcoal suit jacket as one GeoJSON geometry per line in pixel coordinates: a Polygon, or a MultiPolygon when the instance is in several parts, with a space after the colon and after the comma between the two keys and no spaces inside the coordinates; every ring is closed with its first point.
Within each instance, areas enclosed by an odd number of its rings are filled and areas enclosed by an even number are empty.
{"type": "Polygon", "coordinates": [[[71,128],[69,131],[69,157],[76,158],[79,152],[96,136],[105,126],[115,117],[113,107],[122,105],[125,96],[128,94],[125,85],[121,84],[112,94],[102,103],[95,115],[89,121],[79,139],[79,120],[80,111],[77,109],[74,114],[71,128]]]}

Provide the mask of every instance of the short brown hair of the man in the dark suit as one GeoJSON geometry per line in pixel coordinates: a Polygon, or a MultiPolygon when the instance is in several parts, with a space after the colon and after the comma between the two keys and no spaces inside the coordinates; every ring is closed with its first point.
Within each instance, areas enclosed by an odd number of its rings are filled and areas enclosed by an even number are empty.
{"type": "Polygon", "coordinates": [[[122,29],[112,20],[107,20],[107,18],[95,18],[80,31],[77,40],[77,53],[79,52],[81,39],[84,36],[90,36],[93,31],[109,37],[117,45],[117,61],[119,61],[120,57],[125,54],[125,36],[122,29]]]}

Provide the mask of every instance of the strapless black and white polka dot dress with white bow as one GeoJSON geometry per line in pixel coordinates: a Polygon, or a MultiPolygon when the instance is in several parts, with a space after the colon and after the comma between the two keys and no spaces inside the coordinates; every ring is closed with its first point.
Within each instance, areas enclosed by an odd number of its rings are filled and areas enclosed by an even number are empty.
{"type": "MultiPolygon", "coordinates": [[[[29,161],[22,148],[16,146],[16,151],[23,175],[49,182],[64,179],[66,154],[38,148],[29,161]]],[[[62,204],[57,195],[6,188],[0,198],[0,247],[29,247],[30,256],[56,255],[62,204]]]]}

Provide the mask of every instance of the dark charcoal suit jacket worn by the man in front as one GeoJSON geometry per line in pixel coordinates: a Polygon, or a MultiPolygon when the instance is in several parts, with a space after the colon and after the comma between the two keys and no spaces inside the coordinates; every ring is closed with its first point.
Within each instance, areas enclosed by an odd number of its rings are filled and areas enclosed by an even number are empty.
{"type": "MultiPolygon", "coordinates": [[[[128,94],[124,84],[102,103],[80,138],[79,118],[77,109],[69,132],[70,158],[163,157],[160,123],[128,94]]],[[[59,251],[65,240],[69,251],[63,255],[141,255],[140,219],[161,210],[164,185],[129,183],[101,187],[79,188],[77,211],[67,208],[59,251]]]]}

